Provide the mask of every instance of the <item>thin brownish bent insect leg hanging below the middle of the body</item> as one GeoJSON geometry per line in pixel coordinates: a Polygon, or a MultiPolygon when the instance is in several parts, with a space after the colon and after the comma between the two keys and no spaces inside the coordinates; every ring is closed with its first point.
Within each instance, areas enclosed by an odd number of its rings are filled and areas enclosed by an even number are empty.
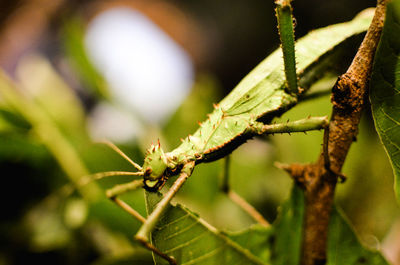
{"type": "Polygon", "coordinates": [[[263,226],[269,226],[269,222],[245,199],[239,194],[230,189],[229,186],[229,164],[230,156],[226,156],[224,159],[224,172],[222,178],[221,190],[228,196],[228,198],[243,209],[249,216],[263,226]]]}

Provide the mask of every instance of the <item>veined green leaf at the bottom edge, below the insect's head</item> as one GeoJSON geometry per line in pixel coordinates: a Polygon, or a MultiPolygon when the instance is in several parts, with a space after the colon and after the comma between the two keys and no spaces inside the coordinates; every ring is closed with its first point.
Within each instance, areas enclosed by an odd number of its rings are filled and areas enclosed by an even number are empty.
{"type": "MultiPolygon", "coordinates": [[[[161,196],[146,194],[150,213],[161,196]]],[[[181,205],[166,211],[151,238],[157,248],[174,256],[178,264],[268,264],[181,205]]],[[[154,258],[156,264],[168,264],[158,256],[154,258]]]]}

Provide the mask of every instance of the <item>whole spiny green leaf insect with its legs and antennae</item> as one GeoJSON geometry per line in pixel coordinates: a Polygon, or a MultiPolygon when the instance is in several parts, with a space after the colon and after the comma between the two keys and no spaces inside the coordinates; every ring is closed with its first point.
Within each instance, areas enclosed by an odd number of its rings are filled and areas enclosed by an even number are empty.
{"type": "MultiPolygon", "coordinates": [[[[208,115],[206,121],[200,123],[193,135],[183,139],[180,146],[167,153],[161,148],[160,142],[151,145],[142,166],[133,162],[114,144],[106,142],[137,171],[101,172],[88,176],[88,179],[114,175],[142,177],[114,186],[106,191],[106,195],[143,223],[135,239],[170,264],[177,264],[177,261],[152,245],[149,234],[196,165],[226,157],[238,146],[258,135],[320,130],[328,124],[327,117],[308,117],[283,124],[271,124],[271,121],[301,100],[303,92],[325,72],[334,71],[333,65],[342,59],[341,45],[364,32],[371,17],[359,15],[353,21],[311,32],[297,42],[298,52],[295,56],[290,2],[275,2],[282,49],[276,50],[261,62],[227,97],[214,105],[214,111],[208,115]],[[138,188],[157,192],[171,176],[178,177],[147,218],[119,198],[121,194],[138,188]]],[[[246,207],[242,205],[242,208],[246,207]]]]}

